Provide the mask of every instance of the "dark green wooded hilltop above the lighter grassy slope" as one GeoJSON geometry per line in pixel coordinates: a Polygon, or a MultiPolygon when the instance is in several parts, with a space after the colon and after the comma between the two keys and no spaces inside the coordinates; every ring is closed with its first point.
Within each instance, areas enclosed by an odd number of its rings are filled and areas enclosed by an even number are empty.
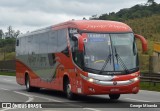
{"type": "Polygon", "coordinates": [[[125,21],[128,19],[149,17],[155,14],[160,14],[160,4],[147,2],[145,4],[137,4],[131,8],[121,9],[118,12],[102,14],[98,19],[125,21]]]}

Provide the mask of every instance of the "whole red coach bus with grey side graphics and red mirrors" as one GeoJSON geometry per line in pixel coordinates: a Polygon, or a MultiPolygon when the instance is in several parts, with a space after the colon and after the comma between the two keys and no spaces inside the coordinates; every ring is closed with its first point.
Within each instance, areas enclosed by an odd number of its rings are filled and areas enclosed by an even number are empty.
{"type": "Polygon", "coordinates": [[[136,38],[124,23],[72,20],[20,35],[16,40],[16,80],[27,91],[40,88],[75,94],[120,94],[139,91],[136,38]]]}

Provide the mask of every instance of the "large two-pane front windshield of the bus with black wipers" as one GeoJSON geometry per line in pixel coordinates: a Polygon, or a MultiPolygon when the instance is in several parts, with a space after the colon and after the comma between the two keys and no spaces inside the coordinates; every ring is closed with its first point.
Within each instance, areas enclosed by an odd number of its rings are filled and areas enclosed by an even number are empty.
{"type": "Polygon", "coordinates": [[[87,33],[84,41],[84,66],[103,72],[125,73],[138,68],[138,55],[133,33],[87,33]],[[107,63],[106,63],[107,62],[107,63]]]}

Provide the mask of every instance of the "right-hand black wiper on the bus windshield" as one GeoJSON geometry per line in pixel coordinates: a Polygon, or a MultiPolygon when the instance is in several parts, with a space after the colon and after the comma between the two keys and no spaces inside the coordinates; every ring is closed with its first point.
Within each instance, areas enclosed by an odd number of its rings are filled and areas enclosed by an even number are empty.
{"type": "Polygon", "coordinates": [[[116,59],[117,59],[117,64],[118,64],[118,60],[119,60],[121,66],[123,67],[123,69],[125,70],[125,72],[126,72],[127,74],[129,74],[129,70],[128,70],[127,66],[125,65],[125,63],[123,62],[123,60],[122,60],[122,58],[120,57],[120,55],[117,53],[117,49],[116,49],[115,46],[114,46],[114,50],[115,50],[115,57],[116,57],[116,59]]]}

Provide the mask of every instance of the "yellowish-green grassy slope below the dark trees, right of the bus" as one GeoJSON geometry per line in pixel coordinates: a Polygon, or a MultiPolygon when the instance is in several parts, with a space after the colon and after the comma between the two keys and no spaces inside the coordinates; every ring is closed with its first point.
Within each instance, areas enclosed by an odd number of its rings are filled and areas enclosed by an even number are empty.
{"type": "MultiPolygon", "coordinates": [[[[143,35],[147,39],[148,54],[152,55],[154,42],[160,42],[160,15],[126,20],[125,23],[128,24],[135,33],[143,35]]],[[[138,49],[141,50],[140,42],[138,42],[138,49]]]]}

